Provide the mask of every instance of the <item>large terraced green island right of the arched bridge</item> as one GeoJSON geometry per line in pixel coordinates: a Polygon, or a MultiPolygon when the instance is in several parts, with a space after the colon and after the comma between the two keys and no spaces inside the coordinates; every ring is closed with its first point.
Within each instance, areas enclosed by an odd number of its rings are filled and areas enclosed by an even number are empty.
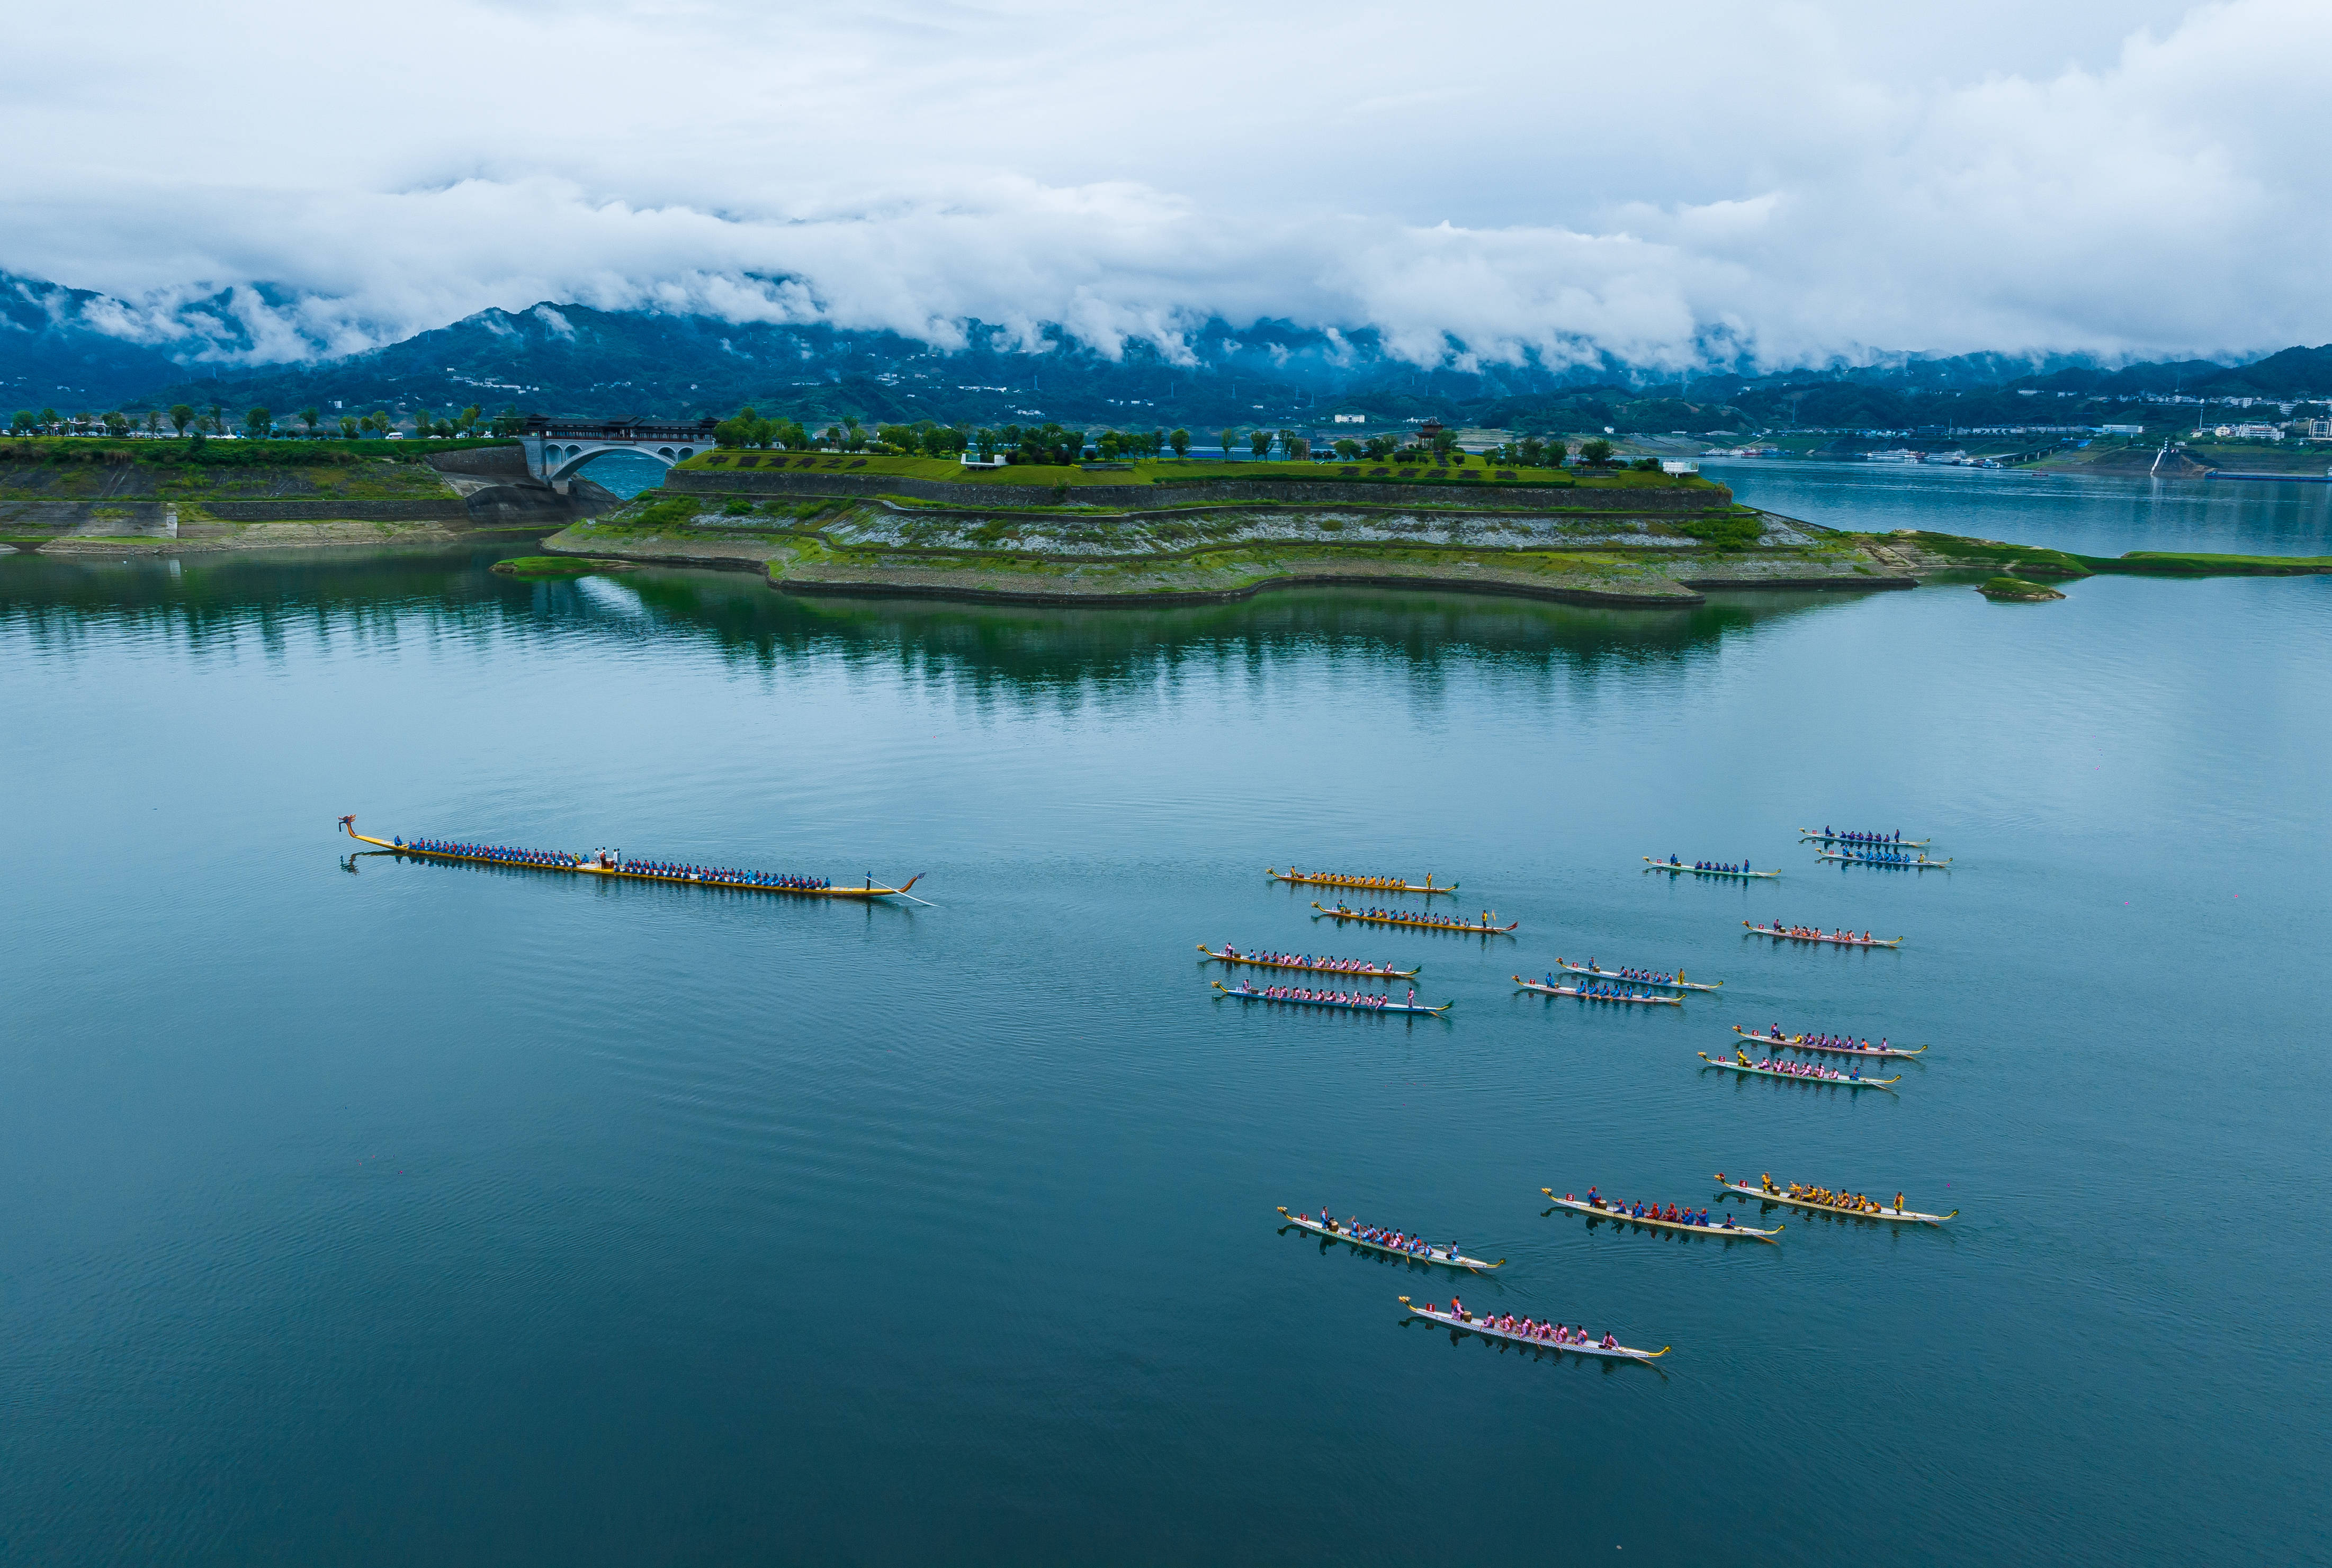
{"type": "Polygon", "coordinates": [[[1446,464],[707,452],[546,550],[765,571],[795,594],[1173,603],[1297,582],[1688,606],[1910,587],[1700,475],[1446,464]]]}

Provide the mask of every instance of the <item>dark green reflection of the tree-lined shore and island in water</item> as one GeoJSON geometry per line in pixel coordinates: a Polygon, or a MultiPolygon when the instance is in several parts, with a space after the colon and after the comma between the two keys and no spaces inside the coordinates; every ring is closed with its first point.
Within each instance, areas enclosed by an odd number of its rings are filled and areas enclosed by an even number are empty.
{"type": "Polygon", "coordinates": [[[935,599],[795,599],[758,575],[646,568],[616,578],[527,582],[499,575],[506,550],[359,555],[301,550],[131,561],[0,559],[0,615],[35,643],[168,624],[189,652],[294,629],[389,648],[401,634],[546,629],[714,643],[779,666],[802,657],[884,659],[909,673],[1059,687],[1147,680],[1182,664],[1285,655],[1390,659],[1432,673],[1451,664],[1656,666],[1730,631],[1840,606],[1840,594],[1758,592],[1691,608],[1572,606],[1397,589],[1285,589],[1192,606],[975,606],[935,599]]]}

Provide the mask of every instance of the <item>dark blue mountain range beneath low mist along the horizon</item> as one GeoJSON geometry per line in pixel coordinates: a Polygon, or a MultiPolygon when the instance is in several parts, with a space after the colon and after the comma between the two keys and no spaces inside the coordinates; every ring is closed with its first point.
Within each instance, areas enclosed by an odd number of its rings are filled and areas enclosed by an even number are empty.
{"type": "Polygon", "coordinates": [[[2208,359],[2101,366],[2082,356],[1919,354],[1772,375],[1674,370],[1614,359],[1546,366],[1392,359],[1374,331],[1287,322],[1208,322],[1187,363],[1150,342],[1108,359],[1066,336],[1042,352],[979,347],[998,333],[972,322],[975,347],[937,352],[886,331],[821,324],[721,322],[581,305],[483,310],[450,326],[345,356],[275,331],[296,301],[271,291],[189,298],[168,310],[0,273],[0,419],[14,408],[61,412],[219,403],[408,415],[417,408],[520,408],[581,417],[728,415],[744,403],[802,422],[937,419],[1012,424],[1063,419],[1122,426],[1318,424],[1334,412],[1374,422],[1439,417],[1458,424],[1747,431],[1782,419],[1807,426],[1896,426],[1933,417],[2031,419],[2075,401],[2141,394],[2316,398],[2332,391],[2332,345],[2290,347],[2248,363],[2208,359]],[[289,354],[310,354],[289,359],[289,354]],[[273,363],[271,363],[273,359],[273,363]],[[2020,396],[2022,394],[2022,396],[2020,396]]]}

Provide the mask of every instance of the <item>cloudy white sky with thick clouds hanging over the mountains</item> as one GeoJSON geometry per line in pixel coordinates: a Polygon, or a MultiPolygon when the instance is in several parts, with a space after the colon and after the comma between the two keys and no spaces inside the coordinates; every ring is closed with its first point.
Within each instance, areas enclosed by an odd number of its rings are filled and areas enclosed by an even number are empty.
{"type": "Polygon", "coordinates": [[[1420,363],[2332,338],[2332,7],[19,9],[0,268],[254,356],[485,305],[1420,363]],[[1884,12],[1884,14],[1877,14],[1884,12]]]}

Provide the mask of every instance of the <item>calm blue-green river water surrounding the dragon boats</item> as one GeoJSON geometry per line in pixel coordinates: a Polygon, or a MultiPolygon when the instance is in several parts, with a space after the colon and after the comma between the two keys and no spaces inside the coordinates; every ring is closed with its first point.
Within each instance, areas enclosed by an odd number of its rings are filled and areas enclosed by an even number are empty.
{"type": "MultiPolygon", "coordinates": [[[[2332,552],[2325,487],[1726,478],[2332,552]]],[[[0,559],[9,1563],[2325,1561],[2332,580],[1045,613],[494,555],[0,559]],[[935,906],[350,855],[350,811],[935,906]],[[1290,862],[1520,932],[1339,932],[1290,862]],[[1455,1007],[1224,1002],[1224,939],[1455,1007]],[[1513,990],[1555,955],[1726,990],[1513,990]],[[1775,1020],[1933,1048],[1702,1072],[1775,1020]],[[1959,1219],[1539,1198],[1716,1170],[1959,1219]],[[1446,1274],[1276,1205],[1674,1351],[1404,1326],[1446,1274]]]]}

